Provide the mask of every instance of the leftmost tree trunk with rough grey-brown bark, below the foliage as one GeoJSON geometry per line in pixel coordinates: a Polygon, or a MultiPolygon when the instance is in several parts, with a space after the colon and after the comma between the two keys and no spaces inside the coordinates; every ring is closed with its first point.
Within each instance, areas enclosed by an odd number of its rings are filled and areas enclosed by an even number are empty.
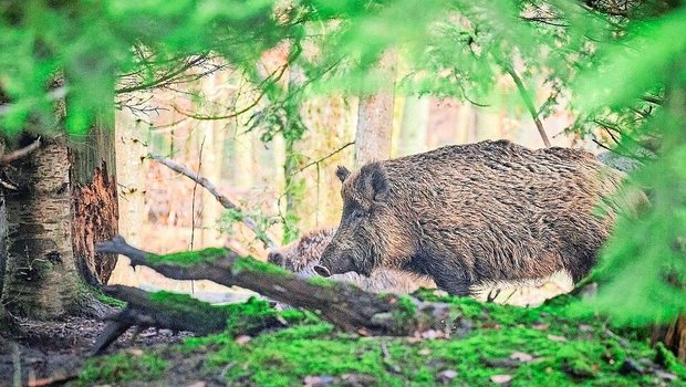
{"type": "Polygon", "coordinates": [[[66,144],[63,138],[45,139],[40,149],[13,166],[22,186],[7,192],[3,302],[20,315],[54,318],[71,310],[79,290],[66,144]]]}

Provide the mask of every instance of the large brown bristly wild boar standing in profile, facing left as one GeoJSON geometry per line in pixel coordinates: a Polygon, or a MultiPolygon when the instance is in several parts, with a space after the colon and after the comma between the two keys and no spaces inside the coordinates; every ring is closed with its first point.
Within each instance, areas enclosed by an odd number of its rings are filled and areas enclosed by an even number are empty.
{"type": "Polygon", "coordinates": [[[603,198],[623,177],[583,150],[507,140],[446,146],[355,172],[339,167],[336,175],[343,213],[315,271],[407,270],[457,295],[559,270],[579,281],[615,218],[603,198]]]}

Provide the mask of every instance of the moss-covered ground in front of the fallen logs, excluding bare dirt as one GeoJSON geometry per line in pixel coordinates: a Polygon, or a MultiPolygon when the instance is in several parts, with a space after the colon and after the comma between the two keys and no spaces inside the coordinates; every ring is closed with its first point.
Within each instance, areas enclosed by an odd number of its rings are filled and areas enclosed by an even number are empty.
{"type": "MultiPolygon", "coordinates": [[[[659,369],[678,378],[671,385],[686,385],[684,365],[665,351],[651,348],[634,331],[613,332],[606,321],[592,314],[570,314],[569,297],[537,308],[480,304],[430,292],[422,297],[456,306],[449,339],[362,337],[340,333],[310,315],[250,341],[224,333],[153,349],[137,360],[122,355],[97,358],[80,383],[159,379],[174,384],[210,378],[232,386],[301,386],[305,378],[319,377],[332,385],[356,380],[378,386],[488,386],[495,385],[492,376],[509,375],[511,386],[645,386],[667,383],[648,372],[659,369]],[[646,373],[621,373],[625,359],[646,373]],[[98,365],[102,368],[94,372],[98,365]],[[166,365],[164,370],[160,365],[166,365]],[[191,372],[179,374],[179,369],[191,372]]],[[[257,311],[264,313],[261,307],[257,311]]]]}

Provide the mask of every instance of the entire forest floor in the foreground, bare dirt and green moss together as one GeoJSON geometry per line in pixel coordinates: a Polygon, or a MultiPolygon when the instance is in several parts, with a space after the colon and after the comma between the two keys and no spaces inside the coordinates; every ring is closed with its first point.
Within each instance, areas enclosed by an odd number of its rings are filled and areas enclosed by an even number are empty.
{"type": "Polygon", "coordinates": [[[20,360],[22,383],[33,385],[72,376],[67,385],[686,386],[686,367],[664,347],[575,308],[569,296],[528,308],[419,296],[455,305],[449,337],[366,337],[309,313],[254,337],[147,330],[133,339],[129,332],[107,355],[89,358],[103,323],[25,321],[30,335],[0,338],[0,383],[11,385],[20,360]]]}

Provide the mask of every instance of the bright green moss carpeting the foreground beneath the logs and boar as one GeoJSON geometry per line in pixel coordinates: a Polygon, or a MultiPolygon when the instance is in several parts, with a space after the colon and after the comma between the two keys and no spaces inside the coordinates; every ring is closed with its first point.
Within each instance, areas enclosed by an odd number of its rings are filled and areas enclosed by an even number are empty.
{"type": "MultiPolygon", "coordinates": [[[[391,295],[386,295],[391,297],[391,295]]],[[[606,322],[567,316],[568,303],[521,308],[478,304],[471,300],[446,297],[460,318],[472,316],[472,328],[456,339],[416,337],[360,337],[339,333],[331,324],[299,311],[288,311],[297,325],[266,332],[239,345],[229,333],[186,339],[170,353],[200,352],[205,372],[224,370],[227,385],[302,385],[306,376],[330,376],[333,385],[344,385],[346,375],[364,377],[367,385],[435,385],[436,375],[455,370],[456,385],[490,385],[498,374],[512,376],[511,386],[638,386],[659,385],[651,374],[621,375],[625,358],[651,359],[661,348],[645,341],[621,339],[606,334],[606,322]],[[531,355],[530,362],[512,360],[514,352],[531,355]],[[512,365],[512,363],[514,363],[512,365]]],[[[398,297],[405,318],[414,315],[409,297],[398,297]]],[[[269,315],[261,301],[235,306],[236,312],[269,315]]],[[[188,357],[188,356],[181,356],[188,357]]],[[[676,362],[665,357],[666,364],[676,362]]],[[[676,362],[671,369],[686,378],[676,362]]],[[[350,383],[349,383],[350,384],[350,383]]]]}

